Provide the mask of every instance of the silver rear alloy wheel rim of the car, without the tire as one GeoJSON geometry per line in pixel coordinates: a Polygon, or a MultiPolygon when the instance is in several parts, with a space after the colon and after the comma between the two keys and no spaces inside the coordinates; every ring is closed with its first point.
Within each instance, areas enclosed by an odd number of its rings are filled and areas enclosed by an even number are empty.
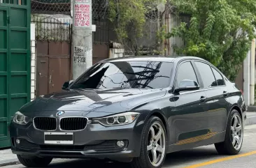
{"type": "Polygon", "coordinates": [[[243,143],[243,123],[239,114],[234,114],[231,124],[232,145],[236,150],[241,148],[243,143]]]}

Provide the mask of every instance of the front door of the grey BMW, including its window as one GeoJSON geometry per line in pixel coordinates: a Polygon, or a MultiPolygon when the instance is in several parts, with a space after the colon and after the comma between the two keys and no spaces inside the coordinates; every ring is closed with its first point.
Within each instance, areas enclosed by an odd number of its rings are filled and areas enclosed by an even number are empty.
{"type": "MultiPolygon", "coordinates": [[[[199,83],[195,70],[190,61],[180,64],[175,85],[190,79],[199,83]]],[[[200,84],[200,83],[199,83],[200,84]]],[[[208,135],[208,106],[206,104],[206,93],[199,89],[197,91],[182,91],[173,96],[175,107],[172,109],[171,129],[175,129],[174,144],[190,145],[200,142],[208,135]]]]}

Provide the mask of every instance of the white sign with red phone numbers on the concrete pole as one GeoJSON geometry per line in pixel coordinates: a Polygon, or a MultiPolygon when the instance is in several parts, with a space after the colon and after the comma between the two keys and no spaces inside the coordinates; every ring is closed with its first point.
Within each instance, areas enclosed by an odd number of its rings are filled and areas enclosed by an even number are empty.
{"type": "Polygon", "coordinates": [[[85,3],[75,4],[75,26],[90,27],[90,5],[85,3]]]}

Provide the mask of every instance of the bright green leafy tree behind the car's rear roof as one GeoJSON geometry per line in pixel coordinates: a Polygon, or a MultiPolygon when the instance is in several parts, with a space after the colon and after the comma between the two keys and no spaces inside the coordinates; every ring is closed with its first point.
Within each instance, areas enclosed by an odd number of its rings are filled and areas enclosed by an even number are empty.
{"type": "Polygon", "coordinates": [[[255,38],[255,1],[170,1],[179,15],[190,17],[190,22],[182,22],[166,35],[185,41],[184,47],[173,46],[176,53],[206,59],[234,80],[255,38]]]}

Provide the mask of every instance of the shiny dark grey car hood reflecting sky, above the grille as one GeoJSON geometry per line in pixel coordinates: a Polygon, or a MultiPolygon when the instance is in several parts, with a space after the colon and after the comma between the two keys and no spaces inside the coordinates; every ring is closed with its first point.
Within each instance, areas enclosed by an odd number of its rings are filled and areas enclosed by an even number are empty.
{"type": "Polygon", "coordinates": [[[99,117],[126,112],[150,100],[164,96],[165,89],[76,89],[40,96],[21,107],[26,116],[99,117]]]}

